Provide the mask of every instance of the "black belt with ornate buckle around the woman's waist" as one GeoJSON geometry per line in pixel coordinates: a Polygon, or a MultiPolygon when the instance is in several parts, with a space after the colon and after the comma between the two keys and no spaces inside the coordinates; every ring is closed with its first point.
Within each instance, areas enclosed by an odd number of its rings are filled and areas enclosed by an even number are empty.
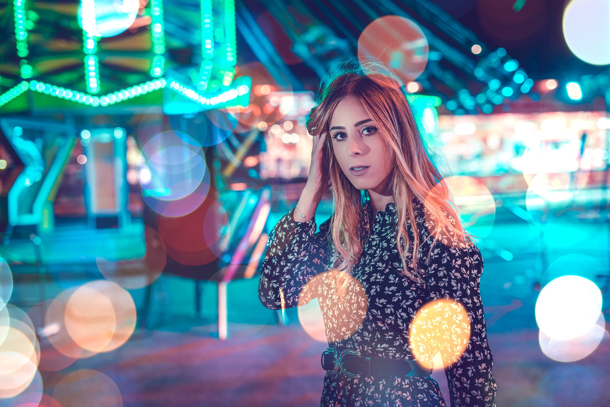
{"type": "Polygon", "coordinates": [[[426,369],[416,361],[361,356],[359,350],[351,349],[337,353],[334,348],[323,351],[322,368],[329,373],[342,372],[353,378],[359,378],[360,375],[428,377],[432,373],[432,369],[426,369]]]}

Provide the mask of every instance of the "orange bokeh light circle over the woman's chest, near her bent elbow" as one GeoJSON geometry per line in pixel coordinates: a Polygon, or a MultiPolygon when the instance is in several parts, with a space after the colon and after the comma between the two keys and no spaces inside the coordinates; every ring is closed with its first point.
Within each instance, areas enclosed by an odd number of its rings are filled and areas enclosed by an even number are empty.
{"type": "Polygon", "coordinates": [[[367,294],[360,281],[336,270],[315,275],[305,284],[298,298],[301,326],[320,342],[349,339],[362,326],[367,311],[367,294]],[[340,292],[344,284],[345,289],[340,292]],[[316,297],[318,301],[313,300],[316,297]]]}

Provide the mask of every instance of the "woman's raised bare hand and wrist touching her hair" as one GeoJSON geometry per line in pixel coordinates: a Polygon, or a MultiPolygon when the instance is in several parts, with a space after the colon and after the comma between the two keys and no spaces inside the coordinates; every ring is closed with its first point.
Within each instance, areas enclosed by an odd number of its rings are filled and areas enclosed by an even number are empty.
{"type": "Polygon", "coordinates": [[[326,142],[328,133],[314,135],[314,145],[311,151],[311,164],[307,182],[301,192],[301,198],[296,204],[293,219],[297,222],[306,222],[314,217],[315,210],[322,199],[322,195],[328,189],[328,168],[322,165],[322,149],[326,142]],[[301,215],[305,215],[304,217],[301,215]]]}

